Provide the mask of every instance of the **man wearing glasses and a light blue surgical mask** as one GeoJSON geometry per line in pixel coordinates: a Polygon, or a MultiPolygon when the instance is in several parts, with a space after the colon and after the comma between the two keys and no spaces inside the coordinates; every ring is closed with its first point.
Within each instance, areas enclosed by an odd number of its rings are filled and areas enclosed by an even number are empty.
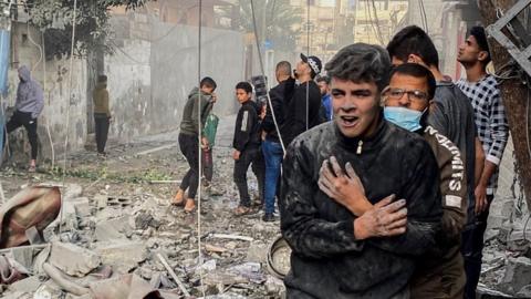
{"type": "Polygon", "coordinates": [[[462,298],[466,276],[459,248],[467,213],[466,172],[459,148],[427,124],[435,89],[435,78],[425,66],[417,63],[396,66],[389,86],[383,91],[384,117],[423,135],[440,171],[442,231],[437,248],[427,254],[414,276],[412,298],[462,298]]]}

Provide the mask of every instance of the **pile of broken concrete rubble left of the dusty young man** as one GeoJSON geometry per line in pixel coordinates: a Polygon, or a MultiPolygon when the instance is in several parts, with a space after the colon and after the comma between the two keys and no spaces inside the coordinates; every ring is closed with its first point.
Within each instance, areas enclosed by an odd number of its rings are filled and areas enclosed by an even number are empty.
{"type": "MultiPolygon", "coordinates": [[[[72,163],[79,172],[119,164],[124,177],[163,165],[167,168],[156,172],[170,179],[114,184],[92,176],[69,177],[61,188],[62,221],[58,217],[44,230],[45,243],[6,249],[0,256],[20,272],[13,282],[2,280],[2,298],[281,298],[285,293],[267,262],[269,246],[280,234],[279,223],[263,223],[259,213],[232,215],[238,194],[228,150],[216,153],[219,173],[211,189],[202,189],[200,234],[197,213],[188,215],[169,205],[177,187],[174,181],[186,171],[175,148],[147,154],[144,168],[134,155],[125,154],[128,150],[97,165],[86,157],[72,163]]],[[[20,188],[49,178],[41,173],[30,184],[20,184],[13,175],[11,182],[20,188]]],[[[17,189],[9,186],[4,189],[12,195],[17,189]]],[[[256,193],[254,183],[250,188],[256,193]]],[[[1,265],[0,258],[0,271],[1,265]]]]}

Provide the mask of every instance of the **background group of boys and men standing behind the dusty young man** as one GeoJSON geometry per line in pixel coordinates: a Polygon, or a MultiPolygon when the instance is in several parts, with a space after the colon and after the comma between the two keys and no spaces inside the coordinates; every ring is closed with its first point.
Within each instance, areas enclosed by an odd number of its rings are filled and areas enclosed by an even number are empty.
{"type": "MultiPolygon", "coordinates": [[[[235,161],[233,182],[238,187],[240,202],[235,215],[242,216],[254,213],[252,206],[256,204],[263,206],[262,219],[264,221],[274,221],[275,198],[279,194],[281,162],[285,146],[302,132],[329,121],[331,117],[327,87],[320,89],[314,80],[321,69],[322,63],[319,58],[304,54],[301,54],[301,61],[296,64],[293,73],[288,61],[279,62],[275,70],[279,84],[270,90],[270,101],[266,105],[253,101],[253,86],[250,83],[239,82],[236,84],[235,95],[240,109],[235,123],[232,158],[235,161]],[[322,101],[321,90],[326,91],[323,93],[326,102],[322,101]],[[249,195],[247,179],[249,167],[258,182],[259,199],[256,203],[249,195]]],[[[196,207],[195,196],[198,178],[204,172],[199,169],[198,163],[199,136],[202,148],[210,147],[211,143],[206,140],[206,128],[209,115],[214,115],[211,110],[216,102],[215,90],[216,82],[211,78],[202,79],[199,89],[194,89],[188,96],[183,111],[179,146],[190,168],[185,175],[173,204],[184,205],[187,213],[192,212],[196,207]]],[[[211,174],[210,177],[206,176],[205,178],[206,182],[210,182],[211,174]]]]}

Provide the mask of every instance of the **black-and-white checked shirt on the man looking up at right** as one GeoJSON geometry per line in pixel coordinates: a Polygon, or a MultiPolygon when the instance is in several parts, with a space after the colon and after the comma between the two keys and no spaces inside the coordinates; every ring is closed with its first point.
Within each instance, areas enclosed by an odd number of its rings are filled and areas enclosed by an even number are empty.
{"type": "MultiPolygon", "coordinates": [[[[483,145],[487,161],[500,165],[509,137],[509,125],[498,82],[492,75],[487,74],[478,82],[461,79],[457,85],[471,101],[478,137],[483,145]]],[[[487,194],[493,195],[497,187],[498,169],[490,177],[487,194]]]]}

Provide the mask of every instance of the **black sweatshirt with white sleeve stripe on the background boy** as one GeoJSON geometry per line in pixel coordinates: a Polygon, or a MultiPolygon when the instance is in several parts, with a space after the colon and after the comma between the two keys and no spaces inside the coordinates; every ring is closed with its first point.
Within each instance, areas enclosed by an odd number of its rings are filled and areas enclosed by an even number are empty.
{"type": "Polygon", "coordinates": [[[260,145],[259,110],[258,104],[251,100],[241,104],[236,117],[235,138],[232,140],[232,147],[236,150],[243,152],[246,148],[260,145]]]}

